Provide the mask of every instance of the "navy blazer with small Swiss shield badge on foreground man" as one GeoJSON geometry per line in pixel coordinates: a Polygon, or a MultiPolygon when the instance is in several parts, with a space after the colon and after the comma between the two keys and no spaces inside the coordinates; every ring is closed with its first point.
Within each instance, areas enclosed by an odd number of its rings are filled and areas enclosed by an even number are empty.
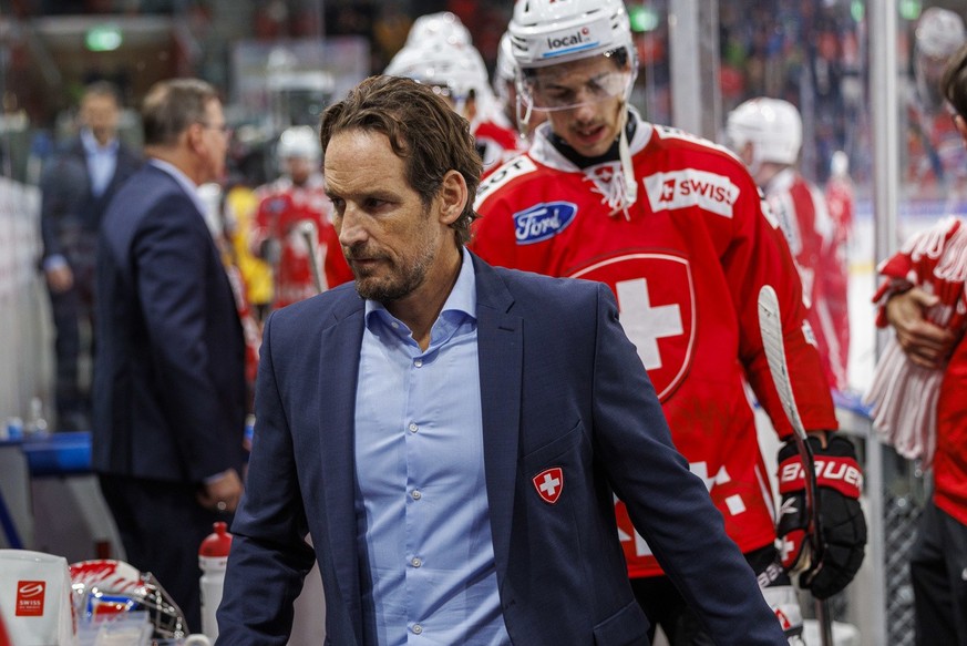
{"type": "MultiPolygon", "coordinates": [[[[486,494],[513,643],[648,643],[614,491],[718,643],[785,644],[704,484],[671,444],[607,286],[479,258],[474,267],[486,494]],[[554,504],[532,481],[552,466],[564,480],[554,504]]],[[[327,643],[363,643],[353,506],[362,332],[363,301],[349,285],[278,310],[265,327],[219,644],[286,643],[312,563],[307,532],[322,574],[327,643]]]]}

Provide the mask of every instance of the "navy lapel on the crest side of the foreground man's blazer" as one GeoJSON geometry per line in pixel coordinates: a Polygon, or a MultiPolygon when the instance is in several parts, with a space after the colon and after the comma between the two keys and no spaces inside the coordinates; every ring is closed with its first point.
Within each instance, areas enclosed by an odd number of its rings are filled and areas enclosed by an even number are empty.
{"type": "Polygon", "coordinates": [[[507,571],[523,379],[523,321],[508,314],[514,303],[504,281],[476,256],[477,348],[483,409],[484,469],[497,582],[507,571]]]}

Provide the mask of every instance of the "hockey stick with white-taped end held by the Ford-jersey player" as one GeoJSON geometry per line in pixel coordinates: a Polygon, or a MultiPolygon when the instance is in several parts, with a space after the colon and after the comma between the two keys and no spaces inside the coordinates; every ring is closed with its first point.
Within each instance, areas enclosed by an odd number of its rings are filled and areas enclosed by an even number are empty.
{"type": "MultiPolygon", "coordinates": [[[[799,408],[792,394],[792,380],[789,377],[789,365],[785,360],[785,343],[782,340],[782,319],[779,316],[779,298],[771,285],[763,285],[759,291],[759,330],[762,332],[762,346],[769,361],[772,382],[782,402],[782,409],[792,425],[795,448],[802,460],[803,479],[805,482],[806,504],[806,542],[812,564],[822,564],[824,545],[820,533],[821,521],[816,495],[816,470],[813,461],[813,450],[806,441],[805,427],[799,416],[799,408]]],[[[809,567],[810,565],[806,565],[809,567]]],[[[833,633],[829,608],[825,601],[815,599],[816,619],[820,624],[820,639],[823,646],[832,646],[833,633]]]]}

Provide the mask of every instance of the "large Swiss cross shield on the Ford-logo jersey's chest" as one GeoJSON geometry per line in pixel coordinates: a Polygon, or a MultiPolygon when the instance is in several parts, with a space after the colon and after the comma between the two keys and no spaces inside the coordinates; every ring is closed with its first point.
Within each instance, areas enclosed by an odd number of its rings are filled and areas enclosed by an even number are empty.
{"type": "Polygon", "coordinates": [[[598,258],[572,277],[611,288],[621,326],[638,348],[658,399],[668,399],[688,373],[695,350],[696,295],[688,260],[657,252],[621,253],[598,258]]]}

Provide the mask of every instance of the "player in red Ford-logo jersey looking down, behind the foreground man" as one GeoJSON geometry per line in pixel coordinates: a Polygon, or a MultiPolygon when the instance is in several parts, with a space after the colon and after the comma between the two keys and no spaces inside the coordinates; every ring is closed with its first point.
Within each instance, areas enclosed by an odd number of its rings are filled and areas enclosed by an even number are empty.
{"type": "MultiPolygon", "coordinates": [[[[795,639],[791,615],[799,607],[788,578],[775,585],[784,576],[773,563],[776,513],[745,394],[748,381],[780,437],[791,437],[759,332],[763,285],[779,294],[810,443],[837,466],[819,479],[826,560],[811,563],[800,585],[820,598],[841,591],[862,563],[866,526],[855,453],[830,432],[836,429],[830,388],[803,330],[802,288],[778,223],[732,154],[647,123],[630,107],[637,60],[619,0],[517,2],[508,31],[522,95],[548,122],[526,154],[481,185],[472,248],[496,265],[599,280],[615,290],[677,448],[706,482],[795,639]]],[[[783,465],[798,460],[791,440],[779,458],[783,465]]],[[[779,556],[785,570],[799,571],[803,490],[788,481],[780,488],[779,556]]],[[[663,576],[620,503],[617,515],[631,585],[652,625],[672,643],[698,643],[702,629],[688,599],[663,576]]]]}

